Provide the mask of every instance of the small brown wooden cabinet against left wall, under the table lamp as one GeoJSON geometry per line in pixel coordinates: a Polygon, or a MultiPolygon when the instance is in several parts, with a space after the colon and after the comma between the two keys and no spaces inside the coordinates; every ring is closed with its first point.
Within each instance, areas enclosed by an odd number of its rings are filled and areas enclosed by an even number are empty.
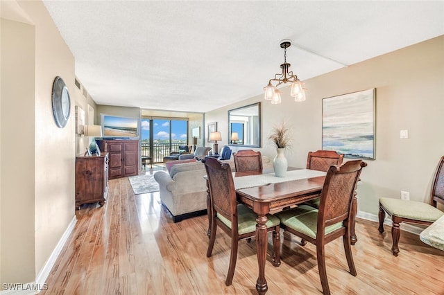
{"type": "Polygon", "coordinates": [[[108,153],[76,157],[76,208],[82,204],[105,204],[108,194],[108,153]]]}

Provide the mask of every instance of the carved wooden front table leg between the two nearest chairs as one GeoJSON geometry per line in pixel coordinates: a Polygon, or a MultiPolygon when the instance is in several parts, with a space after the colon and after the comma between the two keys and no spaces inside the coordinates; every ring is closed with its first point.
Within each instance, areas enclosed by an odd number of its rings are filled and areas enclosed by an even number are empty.
{"type": "Polygon", "coordinates": [[[256,217],[256,249],[257,249],[257,264],[259,266],[259,277],[256,281],[256,289],[259,294],[265,294],[268,290],[265,279],[265,262],[266,262],[266,248],[267,230],[266,222],[268,218],[266,215],[258,215],[256,217]]]}

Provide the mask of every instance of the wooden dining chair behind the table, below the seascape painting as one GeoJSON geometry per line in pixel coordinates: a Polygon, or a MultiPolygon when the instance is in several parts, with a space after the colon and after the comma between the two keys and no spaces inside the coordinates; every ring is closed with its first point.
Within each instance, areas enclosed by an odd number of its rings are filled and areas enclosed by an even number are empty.
{"type": "MultiPolygon", "coordinates": [[[[338,154],[334,150],[317,150],[316,152],[308,152],[307,169],[325,171],[332,165],[341,165],[344,154],[338,154]]],[[[305,204],[319,208],[319,198],[312,199],[305,204]]]]}

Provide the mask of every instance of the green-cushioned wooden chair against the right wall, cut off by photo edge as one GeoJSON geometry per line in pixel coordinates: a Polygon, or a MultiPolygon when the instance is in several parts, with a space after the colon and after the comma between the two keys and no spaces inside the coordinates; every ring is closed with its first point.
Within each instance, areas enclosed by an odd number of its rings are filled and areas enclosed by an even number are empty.
{"type": "Polygon", "coordinates": [[[436,208],[438,203],[444,204],[444,156],[441,157],[438,167],[436,168],[432,189],[430,190],[429,204],[424,202],[407,201],[404,199],[393,199],[389,197],[379,198],[379,233],[384,233],[384,220],[386,213],[391,216],[391,238],[393,245],[391,251],[394,256],[398,256],[400,249],[398,242],[400,241],[400,224],[408,222],[413,224],[430,225],[444,212],[436,208]]]}

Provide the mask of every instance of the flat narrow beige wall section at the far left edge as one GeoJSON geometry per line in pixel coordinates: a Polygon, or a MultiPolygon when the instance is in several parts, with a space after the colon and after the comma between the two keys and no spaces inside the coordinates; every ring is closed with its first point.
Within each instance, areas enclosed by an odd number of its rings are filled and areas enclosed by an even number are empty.
{"type": "Polygon", "coordinates": [[[35,279],[35,31],[1,19],[0,35],[0,278],[28,283],[35,279]]]}

